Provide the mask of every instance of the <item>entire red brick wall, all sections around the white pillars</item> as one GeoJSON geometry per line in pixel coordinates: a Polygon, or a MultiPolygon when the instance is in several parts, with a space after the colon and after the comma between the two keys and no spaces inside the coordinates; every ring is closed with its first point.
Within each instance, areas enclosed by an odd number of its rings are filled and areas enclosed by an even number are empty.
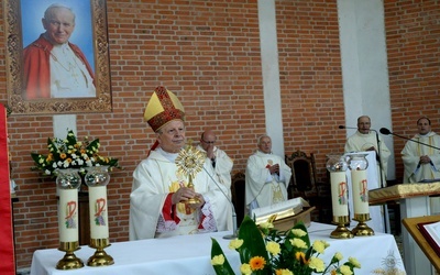
{"type": "MultiPolygon", "coordinates": [[[[436,1],[424,1],[420,10],[402,1],[385,3],[394,130],[409,134],[416,117],[437,113],[438,103],[427,105],[427,100],[438,95],[439,10],[436,1]],[[411,15],[406,9],[414,11],[411,15]],[[407,22],[405,33],[396,20],[407,22]],[[415,77],[422,81],[409,81],[415,77]],[[420,99],[409,99],[419,91],[420,99]]],[[[110,241],[118,242],[128,240],[132,170],[154,142],[142,114],[157,85],[180,98],[188,138],[198,140],[207,127],[217,130],[218,145],[234,158],[234,173],[244,170],[266,122],[256,0],[190,4],[108,0],[107,4],[113,112],[78,114],[77,135],[99,138],[102,154],[119,157],[125,168],[112,173],[108,187],[110,241]]],[[[0,36],[4,37],[0,9],[0,36]]],[[[270,123],[283,123],[286,153],[300,148],[316,154],[319,180],[324,182],[326,154],[342,152],[345,139],[344,131],[337,129],[344,124],[337,3],[276,1],[276,15],[284,118],[270,123]]],[[[0,102],[7,103],[4,48],[3,38],[0,102]]],[[[58,245],[55,184],[30,169],[30,152],[46,152],[52,116],[11,116],[8,127],[20,199],[14,204],[18,266],[25,267],[33,251],[58,245]]],[[[396,142],[398,152],[402,146],[396,142]]]]}

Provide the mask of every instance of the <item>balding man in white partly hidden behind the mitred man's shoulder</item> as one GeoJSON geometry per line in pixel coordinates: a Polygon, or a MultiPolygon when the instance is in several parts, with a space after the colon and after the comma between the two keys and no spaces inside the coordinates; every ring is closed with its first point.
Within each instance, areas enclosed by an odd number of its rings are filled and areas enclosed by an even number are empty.
{"type": "Polygon", "coordinates": [[[228,190],[228,197],[231,197],[231,170],[233,166],[233,161],[228,154],[216,146],[217,135],[213,130],[206,130],[200,135],[200,143],[197,148],[205,152],[207,155],[207,162],[210,164],[209,173],[219,184],[223,185],[228,190]]]}

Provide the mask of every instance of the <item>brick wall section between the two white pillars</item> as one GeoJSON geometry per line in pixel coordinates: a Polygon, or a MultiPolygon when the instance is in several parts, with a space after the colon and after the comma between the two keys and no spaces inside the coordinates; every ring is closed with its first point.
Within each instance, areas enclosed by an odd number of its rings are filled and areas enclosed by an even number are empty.
{"type": "Polygon", "coordinates": [[[285,152],[315,153],[324,182],[345,141],[337,2],[277,1],[276,18],[285,152]]]}

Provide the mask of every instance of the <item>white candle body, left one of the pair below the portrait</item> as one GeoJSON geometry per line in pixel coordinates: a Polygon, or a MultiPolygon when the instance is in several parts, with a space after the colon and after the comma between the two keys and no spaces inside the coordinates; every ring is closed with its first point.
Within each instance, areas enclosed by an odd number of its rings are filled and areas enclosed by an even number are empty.
{"type": "Polygon", "coordinates": [[[78,189],[59,189],[58,229],[59,242],[77,242],[78,237],[78,189]]]}

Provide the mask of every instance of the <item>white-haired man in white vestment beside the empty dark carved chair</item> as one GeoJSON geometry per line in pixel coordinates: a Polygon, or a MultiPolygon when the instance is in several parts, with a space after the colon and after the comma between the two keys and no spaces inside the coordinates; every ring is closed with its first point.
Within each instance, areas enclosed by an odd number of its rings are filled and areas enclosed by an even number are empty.
{"type": "Polygon", "coordinates": [[[284,158],[272,153],[272,139],[260,136],[258,150],[249,157],[245,173],[246,210],[287,200],[292,169],[284,158]]]}

